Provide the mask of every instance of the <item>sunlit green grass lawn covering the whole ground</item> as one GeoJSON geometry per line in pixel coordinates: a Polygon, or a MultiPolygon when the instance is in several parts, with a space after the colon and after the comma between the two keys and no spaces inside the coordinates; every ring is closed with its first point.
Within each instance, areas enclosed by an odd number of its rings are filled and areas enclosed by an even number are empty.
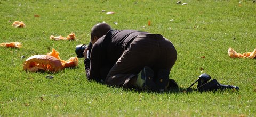
{"type": "Polygon", "coordinates": [[[229,47],[238,53],[256,48],[256,3],[176,2],[0,1],[0,43],[22,43],[20,49],[0,48],[0,116],[256,116],[256,61],[229,58],[227,53],[229,47]],[[13,28],[14,21],[23,21],[26,28],[13,28]],[[135,92],[89,82],[83,59],[75,69],[54,74],[22,70],[28,57],[46,54],[51,48],[63,60],[76,56],[75,46],[88,43],[91,27],[103,21],[114,29],[148,31],[170,39],[178,52],[170,77],[180,90],[135,92]],[[49,39],[71,32],[76,41],[49,39]],[[202,74],[201,67],[212,79],[241,89],[185,92],[202,74]],[[47,75],[54,78],[46,79],[47,75]]]}

